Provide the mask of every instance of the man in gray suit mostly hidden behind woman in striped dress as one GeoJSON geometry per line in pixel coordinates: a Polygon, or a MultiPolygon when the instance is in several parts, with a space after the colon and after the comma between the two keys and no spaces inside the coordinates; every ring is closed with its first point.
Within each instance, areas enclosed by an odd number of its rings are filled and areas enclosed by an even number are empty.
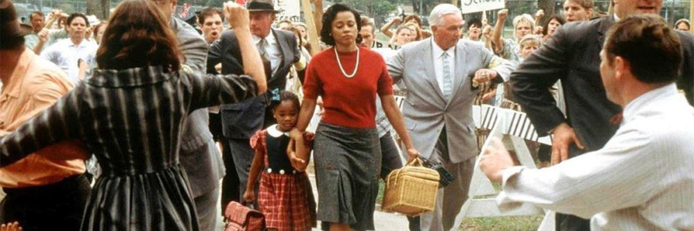
{"type": "MultiPolygon", "coordinates": [[[[183,71],[204,74],[208,43],[192,26],[172,17],[176,1],[155,0],[155,3],[169,17],[169,26],[176,33],[178,47],[186,59],[183,71]]],[[[208,128],[209,120],[206,108],[192,112],[185,122],[180,143],[180,162],[190,180],[200,230],[214,230],[217,225],[219,180],[225,173],[221,153],[208,128]]]]}

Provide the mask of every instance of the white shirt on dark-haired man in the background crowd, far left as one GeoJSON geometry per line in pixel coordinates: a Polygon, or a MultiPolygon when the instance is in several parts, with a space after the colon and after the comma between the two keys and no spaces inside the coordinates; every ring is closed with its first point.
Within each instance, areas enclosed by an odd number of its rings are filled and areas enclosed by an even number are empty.
{"type": "Polygon", "coordinates": [[[87,65],[93,67],[96,49],[99,49],[99,45],[89,40],[83,40],[79,45],[75,45],[72,40],[66,38],[58,40],[56,44],[46,48],[41,53],[41,58],[58,65],[60,69],[67,73],[68,80],[76,84],[79,82],[77,60],[85,60],[87,65]]]}

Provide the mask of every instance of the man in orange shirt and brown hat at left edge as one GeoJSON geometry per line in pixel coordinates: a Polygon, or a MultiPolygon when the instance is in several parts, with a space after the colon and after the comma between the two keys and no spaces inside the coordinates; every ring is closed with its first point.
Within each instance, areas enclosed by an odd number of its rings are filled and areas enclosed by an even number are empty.
{"type": "MultiPolygon", "coordinates": [[[[24,45],[29,33],[12,2],[0,0],[0,137],[74,87],[60,67],[24,45]]],[[[78,230],[91,191],[87,155],[81,142],[62,142],[0,168],[0,187],[7,194],[0,202],[0,223],[18,221],[24,230],[78,230]]]]}

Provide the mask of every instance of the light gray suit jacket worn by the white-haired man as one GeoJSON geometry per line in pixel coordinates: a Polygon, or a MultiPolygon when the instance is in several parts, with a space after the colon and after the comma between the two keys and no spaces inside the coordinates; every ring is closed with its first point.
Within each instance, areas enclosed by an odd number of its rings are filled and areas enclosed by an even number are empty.
{"type": "MultiPolygon", "coordinates": [[[[455,46],[453,92],[451,100],[446,102],[434,74],[431,40],[403,46],[395,57],[387,61],[388,71],[393,83],[402,80],[407,87],[403,116],[414,148],[423,157],[431,157],[441,130],[446,126],[450,161],[462,162],[479,152],[472,116],[477,90],[472,89],[470,76],[474,76],[478,69],[488,68],[496,56],[480,44],[459,40],[455,46]]],[[[500,75],[496,80],[499,81],[507,80],[515,68],[514,63],[504,60],[492,69],[500,75]]]]}

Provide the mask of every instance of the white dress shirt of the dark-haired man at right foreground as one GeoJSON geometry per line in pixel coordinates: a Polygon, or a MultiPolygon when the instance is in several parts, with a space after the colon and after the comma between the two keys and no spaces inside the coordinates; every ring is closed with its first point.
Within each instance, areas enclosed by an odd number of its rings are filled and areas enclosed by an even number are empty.
{"type": "Polygon", "coordinates": [[[592,217],[591,230],[694,230],[693,141],[694,109],[666,85],[627,104],[604,148],[545,169],[505,169],[497,203],[592,217]]]}

